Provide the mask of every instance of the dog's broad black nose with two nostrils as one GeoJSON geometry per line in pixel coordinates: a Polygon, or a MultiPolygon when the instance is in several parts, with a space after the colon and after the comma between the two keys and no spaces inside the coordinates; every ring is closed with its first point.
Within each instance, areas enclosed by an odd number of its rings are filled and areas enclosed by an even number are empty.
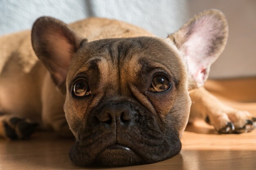
{"type": "Polygon", "coordinates": [[[132,120],[137,111],[133,110],[129,104],[106,104],[103,109],[96,114],[96,117],[103,124],[121,124],[124,125],[132,120]]]}

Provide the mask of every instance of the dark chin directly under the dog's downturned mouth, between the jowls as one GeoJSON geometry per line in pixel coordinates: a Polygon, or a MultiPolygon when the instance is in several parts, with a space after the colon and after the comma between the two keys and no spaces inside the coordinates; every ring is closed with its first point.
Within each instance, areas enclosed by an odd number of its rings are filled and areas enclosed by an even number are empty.
{"type": "Polygon", "coordinates": [[[131,166],[141,164],[143,159],[130,148],[113,145],[106,148],[95,160],[95,165],[101,166],[131,166]]]}

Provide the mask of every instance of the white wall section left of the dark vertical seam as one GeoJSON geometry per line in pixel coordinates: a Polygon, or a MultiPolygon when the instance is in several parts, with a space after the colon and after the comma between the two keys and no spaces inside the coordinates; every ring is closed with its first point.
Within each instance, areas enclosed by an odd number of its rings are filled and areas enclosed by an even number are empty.
{"type": "Polygon", "coordinates": [[[0,0],[0,35],[31,29],[42,15],[81,20],[87,16],[85,0],[0,0]]]}

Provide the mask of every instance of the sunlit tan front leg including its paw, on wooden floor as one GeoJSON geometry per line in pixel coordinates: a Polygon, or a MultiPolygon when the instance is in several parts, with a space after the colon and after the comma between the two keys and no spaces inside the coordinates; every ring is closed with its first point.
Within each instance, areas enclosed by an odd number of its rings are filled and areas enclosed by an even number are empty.
{"type": "Polygon", "coordinates": [[[191,91],[190,97],[189,121],[201,117],[219,133],[250,132],[256,126],[256,118],[249,112],[226,106],[203,87],[191,91]]]}

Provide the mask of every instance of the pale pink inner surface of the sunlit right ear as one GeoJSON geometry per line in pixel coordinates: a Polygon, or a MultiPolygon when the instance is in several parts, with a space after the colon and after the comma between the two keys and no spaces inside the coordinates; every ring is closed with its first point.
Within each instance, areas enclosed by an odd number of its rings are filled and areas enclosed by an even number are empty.
{"type": "Polygon", "coordinates": [[[183,50],[189,72],[199,84],[207,79],[207,69],[216,60],[215,41],[223,37],[222,21],[214,15],[204,15],[187,28],[183,50]]]}

